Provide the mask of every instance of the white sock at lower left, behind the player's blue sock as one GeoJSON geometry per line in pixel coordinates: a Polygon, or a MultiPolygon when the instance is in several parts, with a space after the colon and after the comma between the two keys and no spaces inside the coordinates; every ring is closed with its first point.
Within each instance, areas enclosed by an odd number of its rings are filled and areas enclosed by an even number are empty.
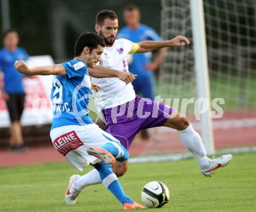
{"type": "Polygon", "coordinates": [[[93,169],[76,180],[76,188],[81,190],[87,185],[99,184],[101,182],[102,181],[101,177],[99,176],[99,172],[97,169],[93,169]]]}

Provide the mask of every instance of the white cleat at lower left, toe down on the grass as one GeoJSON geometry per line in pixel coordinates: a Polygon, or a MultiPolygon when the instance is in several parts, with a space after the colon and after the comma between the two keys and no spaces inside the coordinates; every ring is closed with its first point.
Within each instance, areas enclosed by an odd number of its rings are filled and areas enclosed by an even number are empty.
{"type": "Polygon", "coordinates": [[[66,195],[65,195],[65,200],[67,204],[76,204],[76,198],[81,192],[81,190],[77,189],[74,185],[74,182],[81,177],[78,174],[74,174],[70,177],[69,180],[69,187],[67,187],[66,195]]]}

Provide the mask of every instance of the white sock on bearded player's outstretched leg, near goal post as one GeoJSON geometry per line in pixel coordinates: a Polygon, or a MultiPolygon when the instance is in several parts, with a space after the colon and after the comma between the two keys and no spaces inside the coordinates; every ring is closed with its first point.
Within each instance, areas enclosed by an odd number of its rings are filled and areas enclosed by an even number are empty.
{"type": "Polygon", "coordinates": [[[204,144],[200,135],[194,130],[193,126],[189,125],[184,130],[178,130],[183,144],[193,154],[195,160],[201,168],[207,167],[211,159],[206,155],[204,144]]]}

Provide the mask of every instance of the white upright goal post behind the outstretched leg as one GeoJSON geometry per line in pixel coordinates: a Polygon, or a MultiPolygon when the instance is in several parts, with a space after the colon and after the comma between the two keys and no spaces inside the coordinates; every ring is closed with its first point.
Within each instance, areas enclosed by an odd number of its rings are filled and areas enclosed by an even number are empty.
{"type": "MultiPolygon", "coordinates": [[[[209,91],[207,47],[204,26],[204,6],[202,4],[202,0],[191,0],[190,11],[198,98],[205,98],[210,103],[211,98],[209,91]]],[[[214,155],[214,134],[210,108],[208,108],[206,112],[200,114],[200,118],[202,141],[204,142],[205,149],[208,155],[214,155]]]]}

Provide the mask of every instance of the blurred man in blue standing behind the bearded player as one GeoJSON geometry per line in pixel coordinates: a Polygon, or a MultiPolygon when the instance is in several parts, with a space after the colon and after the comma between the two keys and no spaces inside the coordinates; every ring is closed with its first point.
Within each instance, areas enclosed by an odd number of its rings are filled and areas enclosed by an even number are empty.
{"type": "MultiPolygon", "coordinates": [[[[123,19],[127,24],[118,34],[118,38],[126,38],[134,43],[141,41],[161,41],[161,37],[147,25],[140,23],[140,10],[136,5],[129,4],[123,10],[123,19]]],[[[144,98],[154,100],[154,73],[162,62],[166,49],[160,49],[154,61],[151,61],[152,53],[133,54],[129,64],[129,70],[137,74],[136,81],[133,81],[133,88],[136,94],[144,98]]],[[[147,130],[141,130],[141,138],[148,138],[147,130]]]]}

